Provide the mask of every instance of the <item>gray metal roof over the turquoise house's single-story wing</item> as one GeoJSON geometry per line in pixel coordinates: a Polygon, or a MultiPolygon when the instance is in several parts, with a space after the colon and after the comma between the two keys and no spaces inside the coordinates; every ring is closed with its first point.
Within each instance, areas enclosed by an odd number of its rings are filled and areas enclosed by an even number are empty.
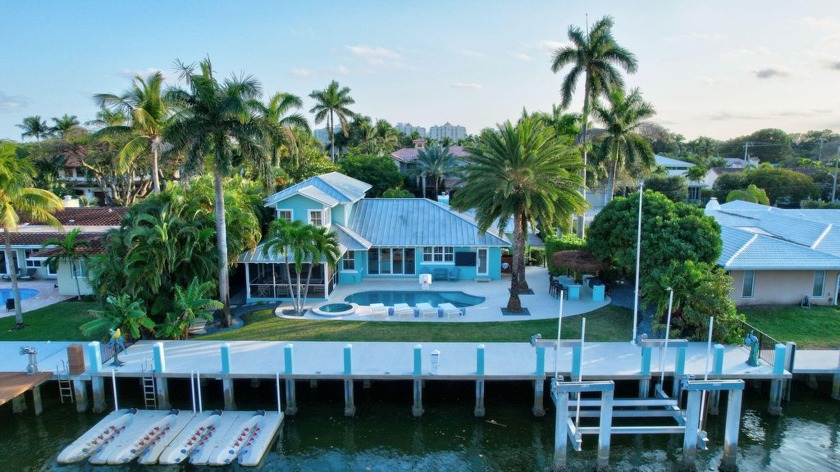
{"type": "Polygon", "coordinates": [[[475,220],[424,198],[360,200],[347,226],[373,246],[510,246],[494,229],[479,235],[475,220]]]}

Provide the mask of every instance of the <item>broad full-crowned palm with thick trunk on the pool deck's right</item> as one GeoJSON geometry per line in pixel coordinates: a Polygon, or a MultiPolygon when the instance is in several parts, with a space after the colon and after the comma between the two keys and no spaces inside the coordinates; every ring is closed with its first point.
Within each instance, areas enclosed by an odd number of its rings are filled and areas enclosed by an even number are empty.
{"type": "Polygon", "coordinates": [[[477,145],[467,148],[466,184],[453,197],[459,211],[475,209],[479,229],[513,218],[513,267],[507,309],[521,311],[519,292],[525,281],[527,228],[539,222],[554,227],[572,213],[583,212],[586,201],[577,192],[582,166],[574,148],[562,144],[540,120],[509,121],[498,131],[486,130],[477,145]]]}

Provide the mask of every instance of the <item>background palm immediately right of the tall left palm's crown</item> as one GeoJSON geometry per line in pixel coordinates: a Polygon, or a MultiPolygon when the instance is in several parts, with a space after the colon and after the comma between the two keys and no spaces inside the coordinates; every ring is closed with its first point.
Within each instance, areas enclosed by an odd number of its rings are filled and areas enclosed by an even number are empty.
{"type": "Polygon", "coordinates": [[[286,147],[295,166],[300,164],[294,128],[302,129],[307,133],[311,132],[306,118],[300,113],[292,113],[293,110],[301,107],[303,107],[303,101],[300,97],[290,93],[275,93],[268,99],[268,103],[257,105],[266,127],[266,137],[271,151],[270,160],[263,159],[260,166],[268,191],[274,185],[272,168],[280,165],[282,147],[286,147]]]}

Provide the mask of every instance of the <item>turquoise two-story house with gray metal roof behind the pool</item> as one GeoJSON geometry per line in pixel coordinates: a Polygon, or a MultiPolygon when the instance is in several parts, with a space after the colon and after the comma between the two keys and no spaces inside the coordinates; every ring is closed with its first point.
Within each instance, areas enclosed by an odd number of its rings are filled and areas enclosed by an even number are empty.
{"type": "MultiPolygon", "coordinates": [[[[313,267],[308,296],[327,298],[336,284],[360,284],[365,278],[417,278],[441,271],[458,280],[501,278],[501,249],[510,246],[503,235],[493,229],[480,234],[473,218],[428,199],[364,198],[370,188],[331,172],[265,200],[276,218],[327,227],[338,236],[338,265],[313,267]]],[[[289,297],[282,255],[264,254],[260,244],[241,254],[239,263],[246,267],[249,301],[289,297]]]]}

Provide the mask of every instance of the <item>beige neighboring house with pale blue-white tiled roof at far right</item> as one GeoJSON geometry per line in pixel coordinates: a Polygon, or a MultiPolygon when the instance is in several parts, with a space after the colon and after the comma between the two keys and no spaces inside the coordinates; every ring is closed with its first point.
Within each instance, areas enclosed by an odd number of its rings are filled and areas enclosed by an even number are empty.
{"type": "Polygon", "coordinates": [[[840,288],[840,210],[780,209],[712,199],[721,225],[718,264],[732,276],[736,305],[793,305],[803,297],[836,305],[840,288]]]}

